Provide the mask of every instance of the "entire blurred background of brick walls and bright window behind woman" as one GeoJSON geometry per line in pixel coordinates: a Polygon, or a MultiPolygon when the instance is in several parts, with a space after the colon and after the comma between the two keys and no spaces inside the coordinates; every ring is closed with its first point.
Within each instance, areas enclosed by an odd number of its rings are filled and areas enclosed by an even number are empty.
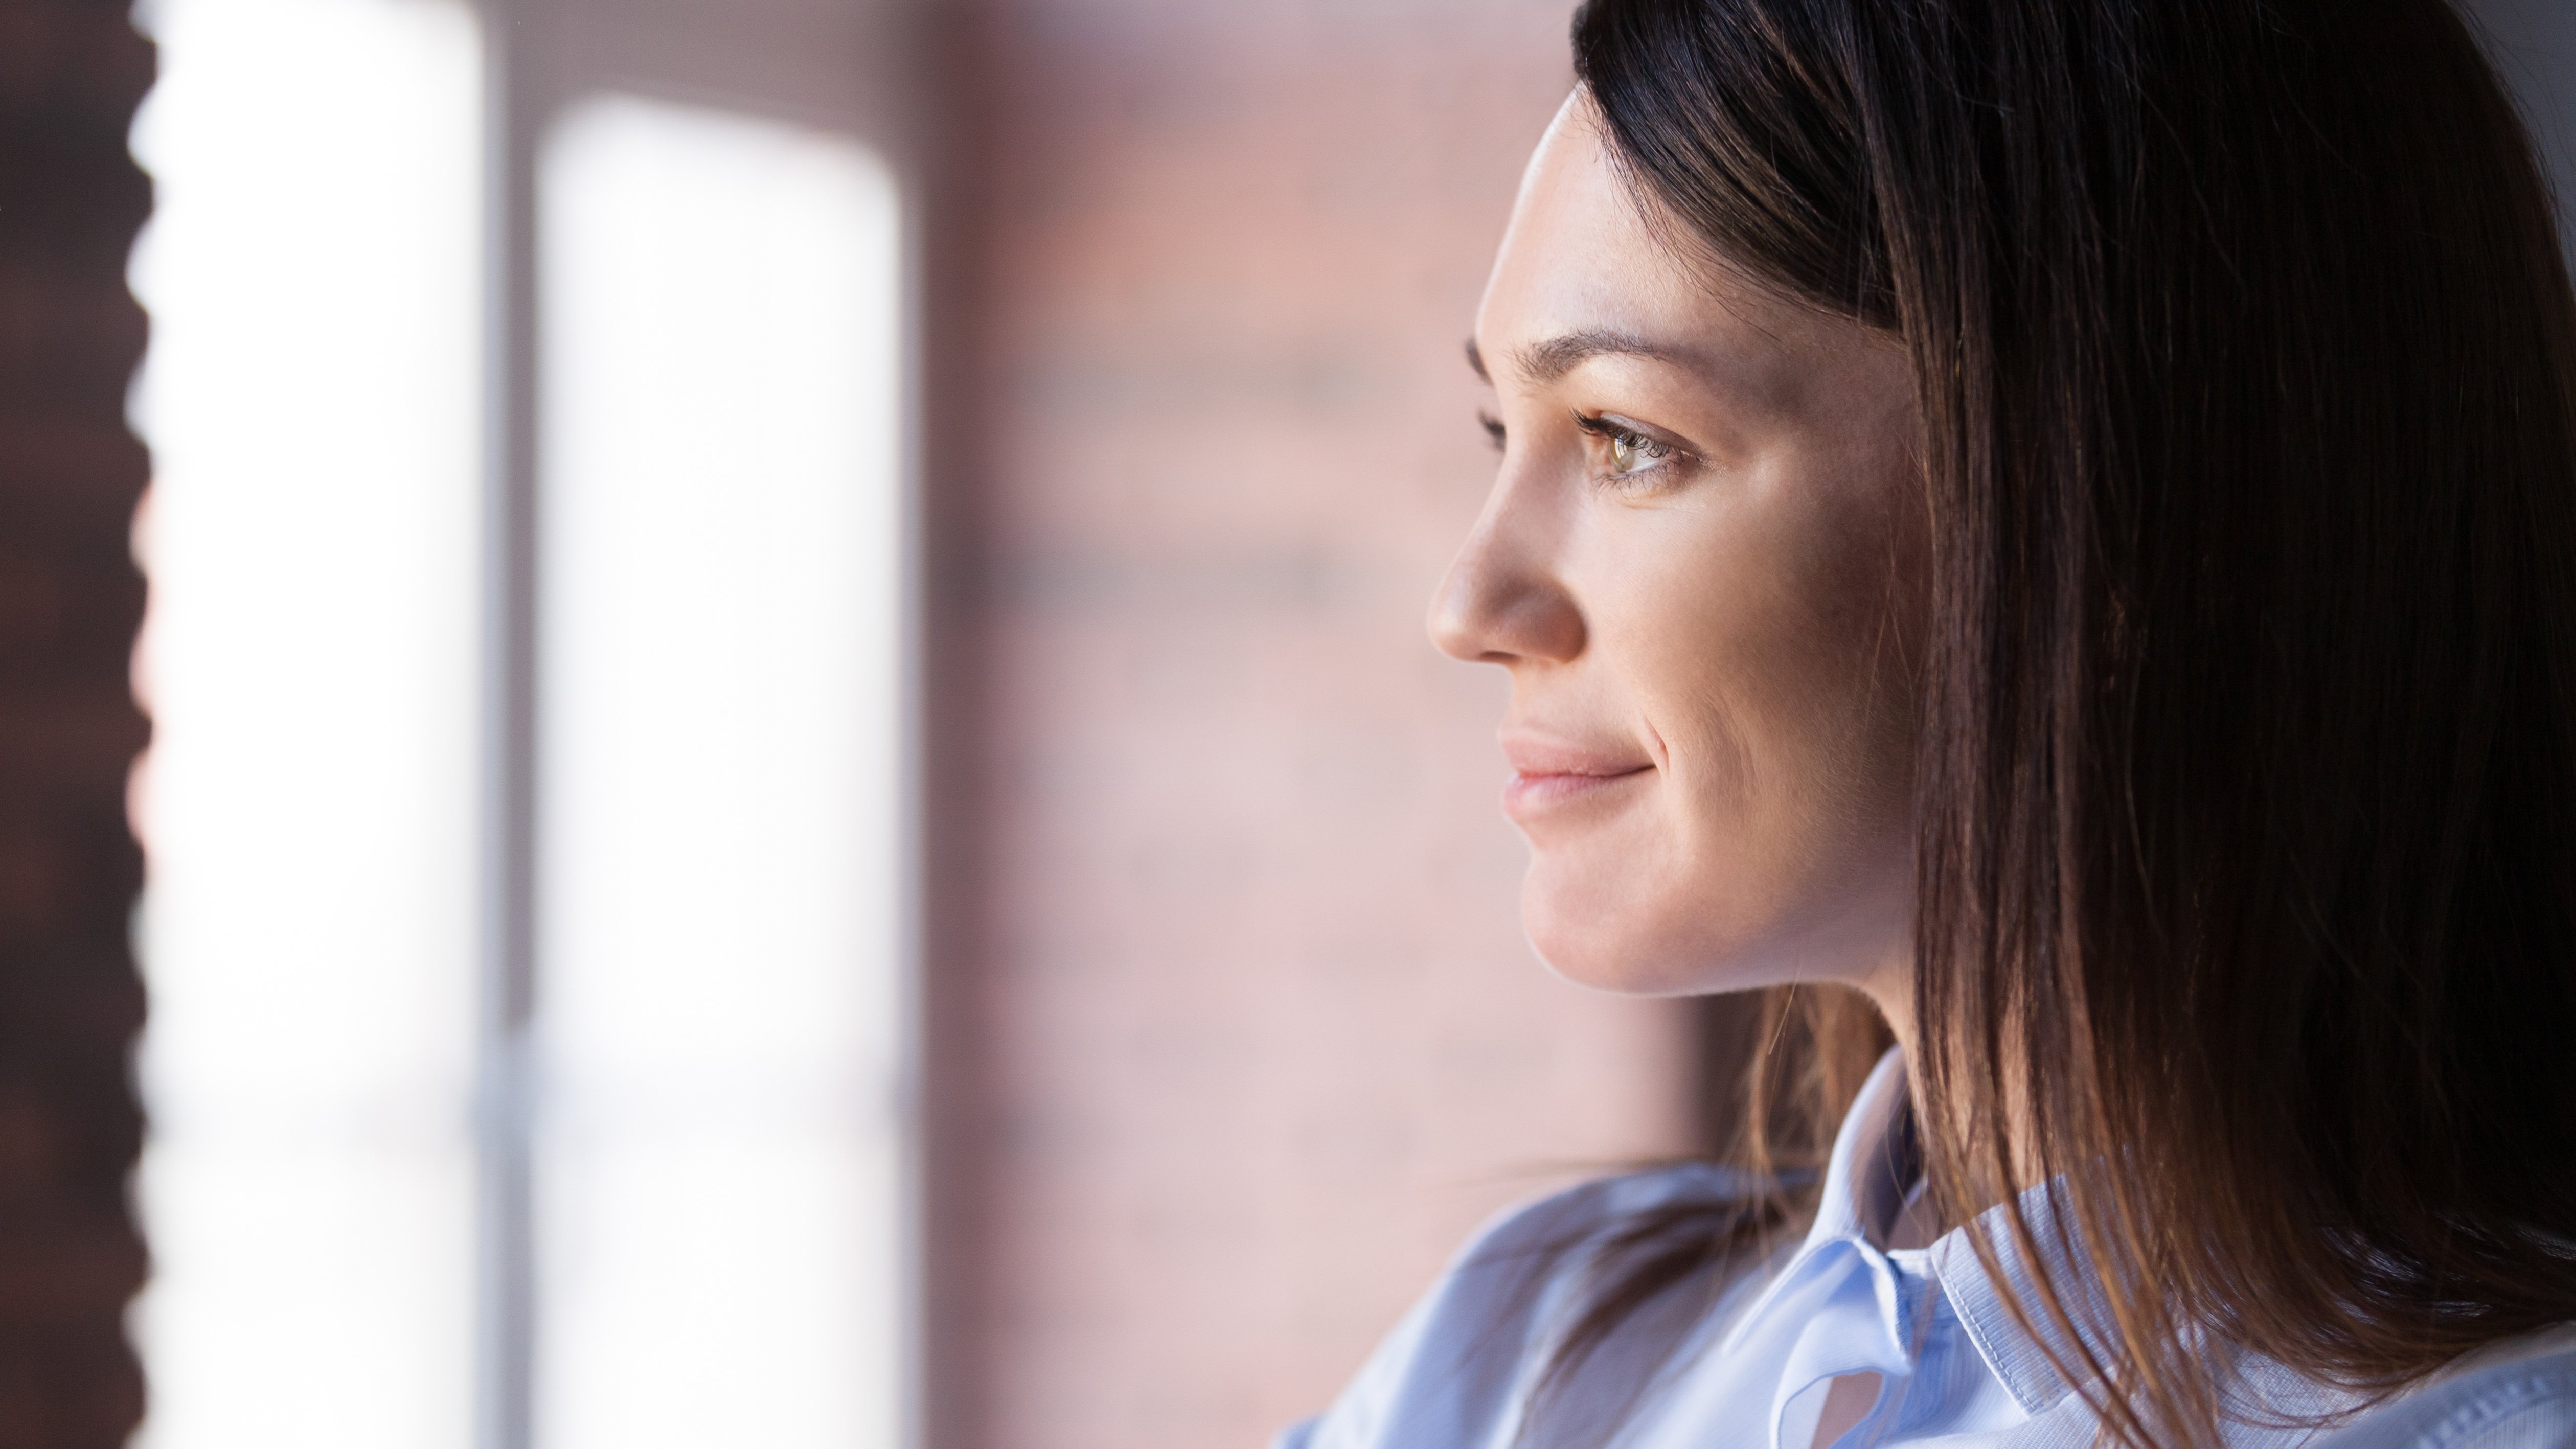
{"type": "Polygon", "coordinates": [[[1262,1444],[1708,1143],[1419,628],[1566,21],[0,0],[0,1449],[1262,1444]]]}

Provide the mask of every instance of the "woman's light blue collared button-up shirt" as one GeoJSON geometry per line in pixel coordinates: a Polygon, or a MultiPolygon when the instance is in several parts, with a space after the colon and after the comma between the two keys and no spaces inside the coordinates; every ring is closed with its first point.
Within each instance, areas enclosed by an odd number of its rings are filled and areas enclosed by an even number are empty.
{"type": "MultiPolygon", "coordinates": [[[[1613,1418],[1615,1449],[1808,1449],[1832,1380],[1870,1372],[1878,1403],[1837,1449],[2092,1449],[2099,1416],[1971,1246],[1968,1233],[1986,1233],[2007,1279],[2025,1282],[2004,1210],[1929,1248],[1880,1246],[1904,1210],[1904,1060],[1888,1053],[1834,1140],[1806,1241],[1659,1295],[1548,1395],[1543,1421],[1525,1423],[1535,1380],[1587,1292],[1618,1269],[1618,1230],[1651,1207],[1741,1197],[1736,1174],[1656,1168],[1507,1212],[1340,1403],[1278,1449],[1600,1446],[1613,1418]]],[[[2038,1225],[2045,1189],[2032,1192],[2038,1225]]],[[[2056,1282],[2076,1274],[2056,1269],[2056,1282]]],[[[2269,1359],[2236,1354],[2231,1367],[2226,1449],[2576,1449],[2576,1328],[2494,1343],[2370,1405],[2269,1359]],[[2318,1416],[2342,1418],[2313,1428],[2318,1416]]]]}

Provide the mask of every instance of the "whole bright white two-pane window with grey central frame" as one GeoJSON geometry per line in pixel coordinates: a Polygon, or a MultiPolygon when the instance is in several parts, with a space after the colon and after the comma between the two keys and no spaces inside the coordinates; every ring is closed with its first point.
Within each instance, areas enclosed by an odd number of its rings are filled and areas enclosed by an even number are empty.
{"type": "Polygon", "coordinates": [[[495,378],[471,10],[144,23],[144,1441],[902,1444],[894,180],[549,108],[502,255],[541,371],[495,378]],[[484,399],[531,381],[536,535],[495,540],[484,399]]]}

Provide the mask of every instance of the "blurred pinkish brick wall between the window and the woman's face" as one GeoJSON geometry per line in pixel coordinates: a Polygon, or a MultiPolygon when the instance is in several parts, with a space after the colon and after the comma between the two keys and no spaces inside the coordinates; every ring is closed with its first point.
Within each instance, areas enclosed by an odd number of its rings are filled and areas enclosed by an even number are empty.
{"type": "Polygon", "coordinates": [[[1692,1135],[1551,978],[1422,613],[1566,0],[951,10],[927,335],[938,1449],[1324,1408],[1494,1207],[1692,1135]]]}

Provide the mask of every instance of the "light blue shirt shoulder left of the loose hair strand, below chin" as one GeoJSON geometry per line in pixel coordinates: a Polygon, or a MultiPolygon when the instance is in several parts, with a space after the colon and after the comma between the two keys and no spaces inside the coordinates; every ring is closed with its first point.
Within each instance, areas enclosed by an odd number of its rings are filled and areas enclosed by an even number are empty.
{"type": "Polygon", "coordinates": [[[1752,1181],[1669,1166],[1587,1181],[1492,1217],[1450,1259],[1321,1418],[1288,1449],[1481,1449],[1510,1439],[1517,1403],[1597,1264],[1664,1210],[1741,1202],[1752,1181]]]}

